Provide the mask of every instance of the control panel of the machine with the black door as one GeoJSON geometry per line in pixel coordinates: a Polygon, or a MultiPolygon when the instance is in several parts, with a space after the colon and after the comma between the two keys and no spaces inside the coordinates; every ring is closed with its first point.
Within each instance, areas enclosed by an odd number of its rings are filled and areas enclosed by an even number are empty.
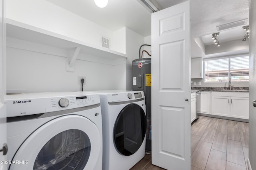
{"type": "Polygon", "coordinates": [[[113,93],[108,94],[108,102],[125,102],[130,100],[137,100],[144,98],[143,92],[125,92],[125,93],[113,93]]]}

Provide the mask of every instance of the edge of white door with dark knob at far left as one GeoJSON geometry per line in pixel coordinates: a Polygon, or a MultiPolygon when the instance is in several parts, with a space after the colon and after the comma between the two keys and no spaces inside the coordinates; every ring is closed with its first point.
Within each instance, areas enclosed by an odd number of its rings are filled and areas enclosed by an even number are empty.
{"type": "Polygon", "coordinates": [[[5,0],[0,0],[0,170],[6,170],[6,156],[3,155],[3,144],[6,143],[6,82],[5,82],[5,54],[6,54],[6,30],[5,30],[5,0]]]}

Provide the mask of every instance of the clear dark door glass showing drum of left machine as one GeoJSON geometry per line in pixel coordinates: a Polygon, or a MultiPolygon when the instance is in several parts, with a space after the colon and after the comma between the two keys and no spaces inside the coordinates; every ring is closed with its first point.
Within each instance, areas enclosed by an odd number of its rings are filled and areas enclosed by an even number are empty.
{"type": "Polygon", "coordinates": [[[40,150],[33,170],[82,170],[90,150],[90,139],[83,131],[63,131],[52,137],[40,150]]]}

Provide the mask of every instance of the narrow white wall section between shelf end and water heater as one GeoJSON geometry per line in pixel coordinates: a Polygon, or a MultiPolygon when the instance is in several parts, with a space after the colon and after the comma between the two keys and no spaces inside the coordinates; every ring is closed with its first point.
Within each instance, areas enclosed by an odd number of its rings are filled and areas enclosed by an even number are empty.
{"type": "Polygon", "coordinates": [[[132,61],[139,58],[144,37],[126,27],[126,90],[132,90],[132,61]]]}

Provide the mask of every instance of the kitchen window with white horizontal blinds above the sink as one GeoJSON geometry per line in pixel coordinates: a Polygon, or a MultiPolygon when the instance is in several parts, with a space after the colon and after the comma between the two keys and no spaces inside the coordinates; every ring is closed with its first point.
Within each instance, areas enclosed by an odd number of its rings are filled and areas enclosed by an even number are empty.
{"type": "Polygon", "coordinates": [[[249,56],[204,60],[204,82],[249,81],[249,56]]]}

